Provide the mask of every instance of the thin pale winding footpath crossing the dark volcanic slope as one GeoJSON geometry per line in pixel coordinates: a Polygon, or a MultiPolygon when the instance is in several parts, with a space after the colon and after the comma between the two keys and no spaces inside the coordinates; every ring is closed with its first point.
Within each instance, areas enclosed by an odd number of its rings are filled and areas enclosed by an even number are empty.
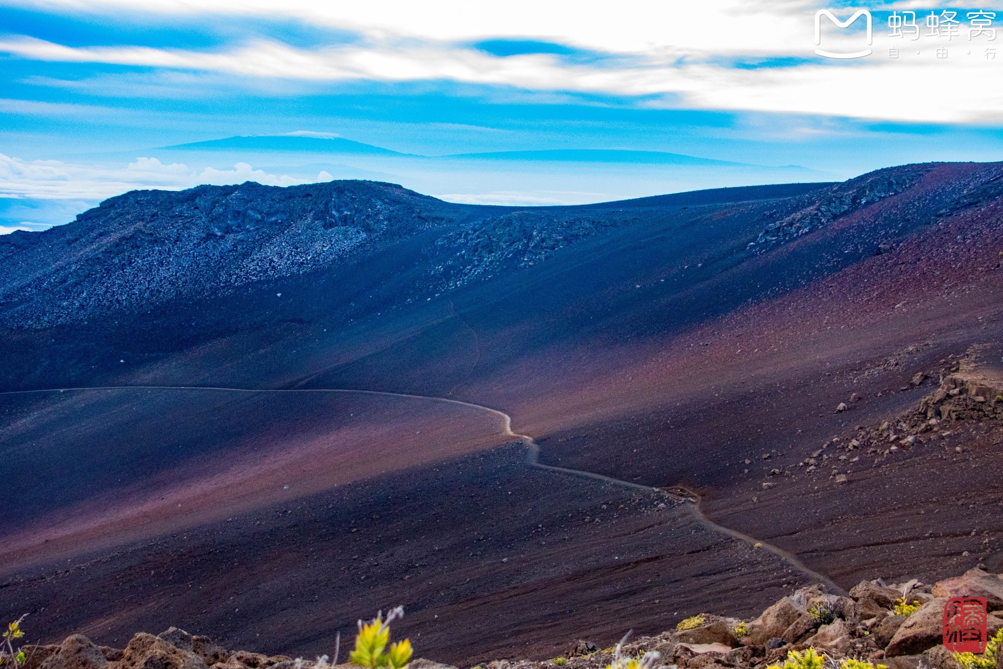
{"type": "Polygon", "coordinates": [[[692,511],[692,514],[696,521],[711,530],[712,532],[717,532],[732,539],[736,539],[740,542],[745,542],[753,546],[754,548],[762,548],[769,551],[780,560],[784,561],[795,570],[804,574],[805,576],[820,581],[825,584],[829,592],[838,593],[840,595],[847,595],[847,592],[837,585],[828,577],[819,574],[807,566],[805,566],[800,560],[798,560],[792,554],[784,551],[783,549],[777,548],[767,542],[756,540],[748,535],[742,534],[737,530],[731,530],[730,528],[725,528],[720,526],[710,519],[703,513],[700,509],[701,497],[696,492],[683,487],[682,485],[676,485],[674,487],[655,487],[651,485],[642,485],[640,483],[633,483],[627,480],[621,480],[619,478],[614,478],[613,476],[607,476],[601,473],[595,473],[593,471],[585,471],[583,469],[571,469],[568,467],[555,466],[552,464],[542,464],[540,462],[540,445],[536,440],[529,434],[520,434],[512,429],[512,416],[498,409],[492,409],[489,406],[483,406],[481,404],[474,404],[472,402],[464,402],[458,399],[448,399],[446,397],[434,397],[431,395],[414,395],[402,392],[388,392],[384,390],[355,390],[350,388],[224,388],[215,386],[174,386],[174,385],[118,385],[118,386],[93,386],[93,387],[79,387],[79,388],[46,388],[42,390],[8,390],[0,392],[0,395],[18,395],[18,394],[41,394],[41,393],[51,393],[51,392],[73,392],[73,391],[87,391],[87,390],[214,390],[220,392],[246,392],[246,393],[279,393],[279,392],[299,392],[299,393],[327,393],[327,392],[337,392],[337,393],[358,393],[365,395],[383,395],[388,397],[408,397],[411,399],[424,399],[436,402],[445,402],[449,404],[457,404],[460,406],[468,406],[470,408],[478,409],[481,411],[488,411],[494,415],[501,418],[501,424],[505,428],[503,434],[505,436],[511,436],[515,440],[522,442],[527,446],[527,463],[537,469],[544,469],[547,471],[556,471],[559,473],[565,473],[572,476],[580,476],[584,478],[592,478],[593,480],[601,480],[607,483],[613,483],[614,485],[620,485],[621,487],[627,487],[636,490],[646,490],[649,492],[663,492],[670,496],[675,497],[677,500],[682,501],[686,505],[688,509],[692,511]]]}

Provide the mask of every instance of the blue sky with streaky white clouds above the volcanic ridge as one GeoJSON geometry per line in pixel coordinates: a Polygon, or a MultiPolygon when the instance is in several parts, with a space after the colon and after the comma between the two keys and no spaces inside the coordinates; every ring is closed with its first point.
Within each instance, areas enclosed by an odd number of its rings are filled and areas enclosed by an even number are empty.
{"type": "Polygon", "coordinates": [[[0,232],[200,182],[385,178],[454,200],[558,204],[1003,155],[1003,36],[990,57],[997,40],[972,34],[975,10],[706,4],[0,0],[0,232]],[[863,20],[825,23],[816,45],[825,7],[873,11],[872,55],[814,53],[865,39],[863,20]],[[893,11],[916,13],[916,39],[891,34],[893,11]],[[957,34],[927,35],[931,13],[954,16],[957,34]],[[292,132],[431,156],[627,148],[769,169],[541,164],[521,180],[522,164],[157,149],[292,132]],[[806,170],[772,170],[791,164],[806,170]]]}

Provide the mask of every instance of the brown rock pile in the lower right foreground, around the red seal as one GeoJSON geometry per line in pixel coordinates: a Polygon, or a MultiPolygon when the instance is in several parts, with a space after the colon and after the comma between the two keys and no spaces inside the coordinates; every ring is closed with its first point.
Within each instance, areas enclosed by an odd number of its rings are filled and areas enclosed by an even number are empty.
{"type": "MultiPolygon", "coordinates": [[[[630,640],[622,653],[657,651],[663,667],[677,669],[765,669],[783,664],[791,650],[811,647],[831,660],[859,659],[889,669],[960,669],[941,643],[944,605],[960,596],[986,598],[990,637],[1003,628],[1003,575],[973,569],[933,586],[916,580],[864,581],[850,597],[828,594],[817,584],[784,597],[752,621],[702,614],[703,623],[692,629],[630,640]],[[897,615],[896,605],[903,601],[918,608],[897,615]]],[[[594,648],[579,641],[566,658],[495,660],[486,669],[603,669],[614,659],[614,649],[590,652],[594,648]]],[[[1003,664],[1000,655],[997,667],[1003,664]]]]}

